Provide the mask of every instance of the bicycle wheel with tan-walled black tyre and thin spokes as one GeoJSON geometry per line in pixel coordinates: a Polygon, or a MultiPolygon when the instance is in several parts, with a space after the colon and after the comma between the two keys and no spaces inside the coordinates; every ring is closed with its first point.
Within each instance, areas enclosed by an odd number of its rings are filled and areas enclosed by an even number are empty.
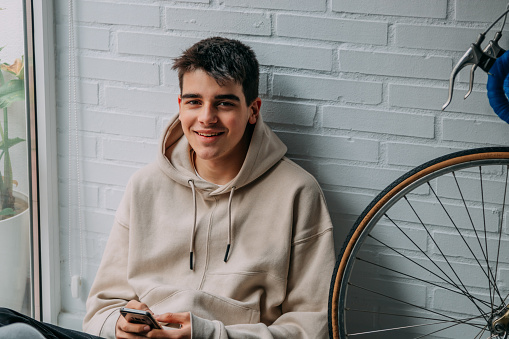
{"type": "Polygon", "coordinates": [[[355,222],[329,297],[330,338],[509,337],[509,147],[406,173],[355,222]]]}

